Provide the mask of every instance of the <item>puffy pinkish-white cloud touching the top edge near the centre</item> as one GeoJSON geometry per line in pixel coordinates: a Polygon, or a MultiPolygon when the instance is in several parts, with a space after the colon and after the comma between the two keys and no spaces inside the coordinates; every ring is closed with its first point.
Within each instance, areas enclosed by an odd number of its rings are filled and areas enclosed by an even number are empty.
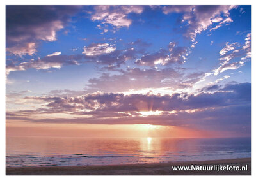
{"type": "Polygon", "coordinates": [[[143,6],[94,6],[92,20],[100,20],[102,24],[111,24],[113,27],[129,27],[132,20],[127,18],[129,13],[140,14],[143,6]]]}

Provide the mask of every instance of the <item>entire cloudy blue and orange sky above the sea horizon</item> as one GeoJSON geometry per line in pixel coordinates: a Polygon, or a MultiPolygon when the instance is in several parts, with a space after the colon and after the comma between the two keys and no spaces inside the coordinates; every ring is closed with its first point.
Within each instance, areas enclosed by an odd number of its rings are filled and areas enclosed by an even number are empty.
{"type": "Polygon", "coordinates": [[[7,136],[250,130],[251,6],[6,6],[7,136]]]}

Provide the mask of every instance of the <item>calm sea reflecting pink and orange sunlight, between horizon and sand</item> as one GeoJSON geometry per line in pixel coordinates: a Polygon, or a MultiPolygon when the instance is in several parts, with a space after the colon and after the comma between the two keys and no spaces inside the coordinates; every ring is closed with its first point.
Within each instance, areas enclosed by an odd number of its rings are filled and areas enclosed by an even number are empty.
{"type": "Polygon", "coordinates": [[[6,167],[85,166],[251,157],[251,138],[6,137],[6,167]]]}

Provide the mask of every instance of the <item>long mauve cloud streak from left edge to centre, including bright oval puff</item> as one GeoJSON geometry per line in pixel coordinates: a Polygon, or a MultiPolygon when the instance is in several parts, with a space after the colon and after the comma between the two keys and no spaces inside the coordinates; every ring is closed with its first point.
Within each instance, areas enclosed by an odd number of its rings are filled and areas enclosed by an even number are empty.
{"type": "Polygon", "coordinates": [[[103,69],[115,70],[127,60],[136,59],[136,54],[141,54],[143,50],[127,48],[116,50],[116,45],[109,43],[92,43],[84,47],[83,54],[61,55],[61,52],[54,52],[42,59],[31,59],[24,62],[9,61],[6,65],[6,75],[12,71],[24,71],[29,68],[49,69],[61,68],[64,65],[79,65],[86,62],[94,62],[97,65],[104,65],[103,69]],[[81,61],[84,59],[83,61],[81,61]]]}

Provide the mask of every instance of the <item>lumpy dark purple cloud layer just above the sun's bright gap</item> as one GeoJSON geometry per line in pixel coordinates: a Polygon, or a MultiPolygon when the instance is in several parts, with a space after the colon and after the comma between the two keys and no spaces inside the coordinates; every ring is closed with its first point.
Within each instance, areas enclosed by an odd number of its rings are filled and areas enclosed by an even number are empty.
{"type": "Polygon", "coordinates": [[[194,94],[130,94],[93,93],[77,97],[25,97],[45,101],[50,110],[79,112],[92,110],[99,112],[141,112],[141,111],[180,111],[216,108],[236,105],[250,105],[250,83],[226,85],[214,93],[194,94]]]}

